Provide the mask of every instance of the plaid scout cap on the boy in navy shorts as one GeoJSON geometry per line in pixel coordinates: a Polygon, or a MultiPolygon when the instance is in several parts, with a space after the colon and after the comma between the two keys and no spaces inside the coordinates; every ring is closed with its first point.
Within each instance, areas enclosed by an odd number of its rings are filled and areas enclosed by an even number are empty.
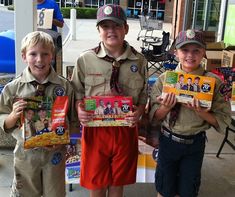
{"type": "Polygon", "coordinates": [[[204,42],[203,32],[194,29],[188,29],[187,31],[181,31],[175,41],[175,48],[179,49],[186,44],[198,44],[203,48],[206,48],[204,42]]]}

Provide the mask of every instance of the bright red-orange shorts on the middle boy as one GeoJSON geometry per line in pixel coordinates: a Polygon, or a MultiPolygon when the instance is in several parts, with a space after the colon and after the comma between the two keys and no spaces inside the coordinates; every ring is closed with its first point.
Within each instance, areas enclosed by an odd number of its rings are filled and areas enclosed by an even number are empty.
{"type": "Polygon", "coordinates": [[[87,189],[136,181],[138,132],[130,127],[84,127],[80,185],[87,189]]]}

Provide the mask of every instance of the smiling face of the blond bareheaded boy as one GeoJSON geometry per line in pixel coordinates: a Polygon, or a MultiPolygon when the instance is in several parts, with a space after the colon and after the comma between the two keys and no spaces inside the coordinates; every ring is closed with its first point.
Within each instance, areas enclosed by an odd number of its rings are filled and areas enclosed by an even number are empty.
{"type": "Polygon", "coordinates": [[[50,47],[37,44],[27,48],[26,53],[22,54],[22,59],[28,65],[32,75],[41,82],[50,73],[53,54],[50,47]]]}

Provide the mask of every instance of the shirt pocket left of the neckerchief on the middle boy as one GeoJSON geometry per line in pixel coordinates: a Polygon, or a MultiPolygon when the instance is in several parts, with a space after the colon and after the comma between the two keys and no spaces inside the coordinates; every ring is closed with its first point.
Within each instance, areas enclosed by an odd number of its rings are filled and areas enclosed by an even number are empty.
{"type": "Polygon", "coordinates": [[[106,80],[102,76],[88,76],[85,78],[86,96],[104,94],[106,80]]]}

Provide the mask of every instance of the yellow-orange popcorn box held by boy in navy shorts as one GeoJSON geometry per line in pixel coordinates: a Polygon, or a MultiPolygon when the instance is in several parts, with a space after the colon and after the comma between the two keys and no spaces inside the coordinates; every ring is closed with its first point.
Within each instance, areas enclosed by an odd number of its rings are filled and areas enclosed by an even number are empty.
{"type": "Polygon", "coordinates": [[[210,108],[215,87],[212,77],[167,71],[163,84],[163,94],[173,92],[177,101],[187,103],[195,97],[202,107],[210,108]]]}

